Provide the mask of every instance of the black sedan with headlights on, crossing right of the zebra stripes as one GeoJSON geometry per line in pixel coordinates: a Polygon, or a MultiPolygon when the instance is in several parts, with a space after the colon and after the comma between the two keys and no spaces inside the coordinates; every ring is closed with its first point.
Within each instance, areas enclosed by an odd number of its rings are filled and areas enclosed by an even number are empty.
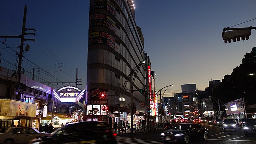
{"type": "Polygon", "coordinates": [[[161,141],[165,142],[185,142],[192,139],[203,139],[206,141],[209,137],[209,130],[206,127],[196,123],[178,124],[168,131],[161,133],[161,141]]]}

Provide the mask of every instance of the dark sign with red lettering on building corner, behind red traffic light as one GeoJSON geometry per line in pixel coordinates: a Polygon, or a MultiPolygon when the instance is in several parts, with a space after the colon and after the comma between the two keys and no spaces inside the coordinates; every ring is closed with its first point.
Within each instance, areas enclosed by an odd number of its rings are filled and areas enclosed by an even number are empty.
{"type": "Polygon", "coordinates": [[[108,89],[88,89],[86,95],[88,105],[108,104],[108,89]]]}

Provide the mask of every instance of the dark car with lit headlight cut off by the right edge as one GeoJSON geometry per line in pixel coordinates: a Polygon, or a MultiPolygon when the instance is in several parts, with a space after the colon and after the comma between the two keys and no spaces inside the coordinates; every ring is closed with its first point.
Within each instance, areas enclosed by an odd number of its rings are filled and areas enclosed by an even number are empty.
{"type": "Polygon", "coordinates": [[[256,134],[256,119],[247,118],[244,125],[244,136],[256,134]]]}

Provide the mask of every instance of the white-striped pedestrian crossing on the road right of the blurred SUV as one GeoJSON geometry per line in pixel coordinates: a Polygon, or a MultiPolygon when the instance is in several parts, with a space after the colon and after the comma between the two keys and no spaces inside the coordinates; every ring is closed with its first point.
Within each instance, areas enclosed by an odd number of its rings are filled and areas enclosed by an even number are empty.
{"type": "Polygon", "coordinates": [[[165,144],[164,142],[148,141],[145,139],[136,139],[131,137],[116,136],[118,144],[165,144]]]}

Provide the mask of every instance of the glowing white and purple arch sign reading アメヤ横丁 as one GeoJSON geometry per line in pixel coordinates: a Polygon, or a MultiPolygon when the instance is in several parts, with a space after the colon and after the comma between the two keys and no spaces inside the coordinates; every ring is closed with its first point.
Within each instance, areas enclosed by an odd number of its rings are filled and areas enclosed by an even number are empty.
{"type": "Polygon", "coordinates": [[[57,91],[53,89],[54,97],[61,102],[76,102],[83,98],[85,89],[76,88],[75,86],[64,86],[57,91]]]}

